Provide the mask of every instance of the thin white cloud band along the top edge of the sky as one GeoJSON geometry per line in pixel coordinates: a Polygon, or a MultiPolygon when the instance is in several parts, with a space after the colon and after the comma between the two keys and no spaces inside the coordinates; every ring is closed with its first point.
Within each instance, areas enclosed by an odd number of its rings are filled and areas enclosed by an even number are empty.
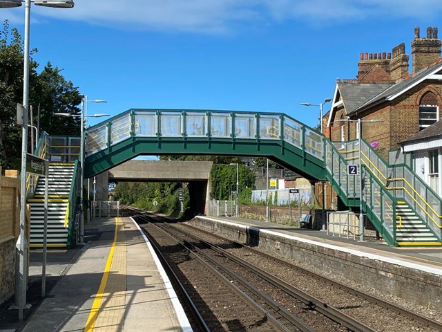
{"type": "MultiPolygon", "coordinates": [[[[253,24],[261,20],[296,20],[311,25],[330,25],[386,16],[430,19],[440,15],[442,6],[439,6],[439,2],[440,0],[75,0],[73,9],[32,6],[32,11],[42,17],[73,19],[118,29],[227,33],[234,30],[238,23],[253,24]]],[[[13,22],[17,21],[19,15],[10,10],[10,17],[13,22]]]]}

